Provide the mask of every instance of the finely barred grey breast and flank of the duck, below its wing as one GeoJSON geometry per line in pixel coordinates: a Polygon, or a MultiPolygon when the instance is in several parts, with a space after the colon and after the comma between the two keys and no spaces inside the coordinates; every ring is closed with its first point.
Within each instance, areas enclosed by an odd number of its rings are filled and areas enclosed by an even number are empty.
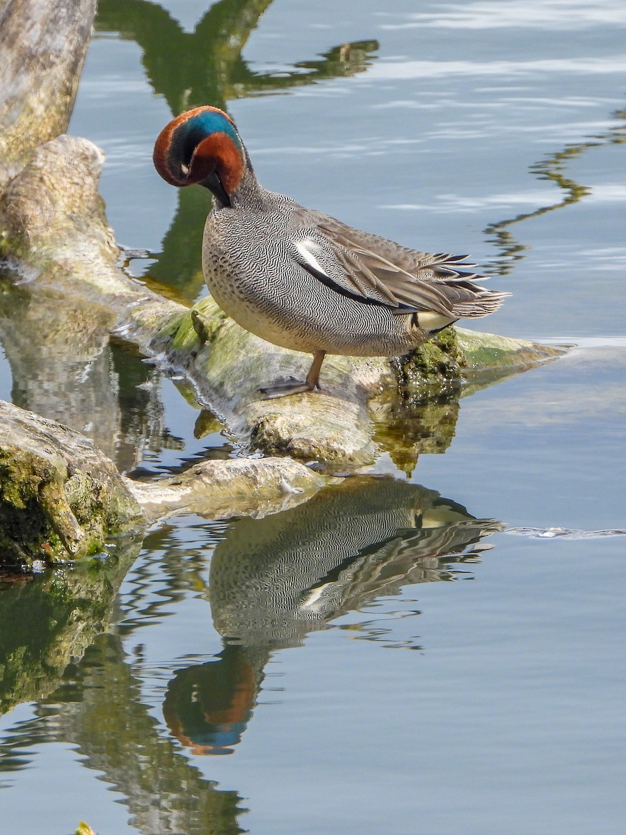
{"type": "Polygon", "coordinates": [[[394,356],[420,342],[411,316],[364,304],[326,286],[294,260],[280,213],[223,209],[209,215],[204,279],[247,331],[295,351],[394,356]]]}

